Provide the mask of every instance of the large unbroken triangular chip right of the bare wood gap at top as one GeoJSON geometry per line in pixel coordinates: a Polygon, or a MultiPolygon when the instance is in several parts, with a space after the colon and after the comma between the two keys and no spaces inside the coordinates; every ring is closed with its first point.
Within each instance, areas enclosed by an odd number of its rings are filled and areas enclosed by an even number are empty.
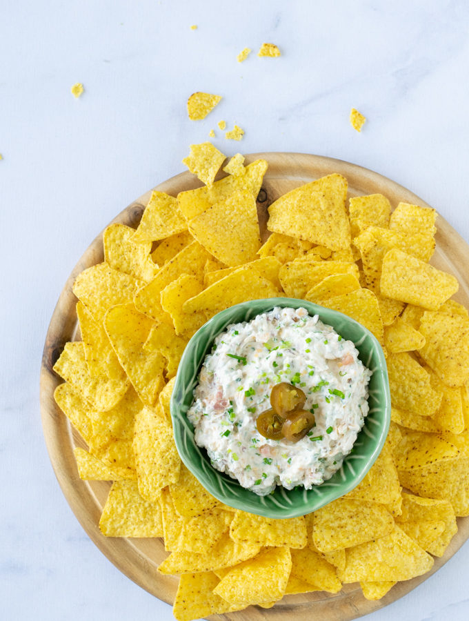
{"type": "Polygon", "coordinates": [[[350,246],[347,180],[328,175],[281,196],[268,208],[268,230],[306,239],[331,250],[350,246]]]}

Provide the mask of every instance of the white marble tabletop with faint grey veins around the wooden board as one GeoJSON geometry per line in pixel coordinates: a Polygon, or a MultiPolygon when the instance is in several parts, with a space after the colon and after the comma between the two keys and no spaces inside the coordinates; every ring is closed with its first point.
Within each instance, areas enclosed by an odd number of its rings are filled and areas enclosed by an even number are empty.
{"type": "MultiPolygon", "coordinates": [[[[219,119],[237,150],[361,164],[413,190],[469,242],[465,0],[0,1],[0,618],[172,619],[99,552],[52,473],[39,365],[57,297],[90,240],[183,169],[219,119]],[[198,30],[190,30],[197,24],[198,30]],[[277,43],[280,59],[245,46],[277,43]],[[70,86],[81,81],[80,99],[70,86]],[[205,121],[195,90],[223,95],[205,121]],[[349,125],[355,106],[368,117],[349,125]]],[[[370,621],[469,617],[469,544],[370,621]]]]}

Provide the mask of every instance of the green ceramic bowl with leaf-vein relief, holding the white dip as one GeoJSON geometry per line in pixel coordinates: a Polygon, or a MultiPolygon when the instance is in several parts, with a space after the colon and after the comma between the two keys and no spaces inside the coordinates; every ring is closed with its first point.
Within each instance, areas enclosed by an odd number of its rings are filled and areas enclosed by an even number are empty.
{"type": "Polygon", "coordinates": [[[352,490],[366,475],[383,448],[390,424],[391,398],[388,372],[383,350],[377,339],[361,324],[350,317],[331,311],[302,299],[275,297],[255,299],[227,308],[215,315],[190,339],[183,353],[171,397],[171,416],[174,439],[181,460],[214,497],[225,504],[266,517],[297,517],[317,511],[352,490]],[[256,315],[271,311],[275,306],[306,308],[309,315],[319,315],[325,324],[333,326],[344,338],[353,341],[360,359],[373,371],[369,384],[370,411],[365,419],[354,451],[348,455],[341,469],[328,481],[310,490],[287,490],[281,486],[274,493],[259,496],[241,487],[237,480],[215,470],[205,449],[194,442],[194,428],[186,413],[193,401],[193,391],[206,355],[210,353],[215,337],[229,324],[250,321],[256,315]]]}

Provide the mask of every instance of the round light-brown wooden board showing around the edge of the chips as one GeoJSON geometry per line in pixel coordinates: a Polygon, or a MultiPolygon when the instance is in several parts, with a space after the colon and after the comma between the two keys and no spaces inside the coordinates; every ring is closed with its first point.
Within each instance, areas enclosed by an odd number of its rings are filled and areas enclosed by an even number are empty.
{"type": "MultiPolygon", "coordinates": [[[[256,153],[246,157],[247,163],[263,157],[269,168],[263,180],[263,187],[258,197],[259,219],[264,239],[266,231],[267,207],[280,195],[293,188],[322,177],[332,172],[339,172],[348,179],[349,195],[358,196],[381,193],[388,197],[392,208],[399,201],[406,201],[421,206],[428,206],[415,194],[366,168],[349,164],[345,161],[305,155],[301,153],[256,153]]],[[[189,172],[168,179],[157,186],[170,195],[176,196],[181,190],[199,186],[199,182],[189,172]]],[[[150,193],[144,194],[137,201],[124,209],[113,222],[122,222],[137,226],[150,193]]],[[[454,274],[459,280],[460,288],[455,298],[469,307],[469,246],[458,233],[441,216],[437,220],[437,249],[431,263],[438,268],[454,274]]],[[[90,244],[86,253],[77,263],[59,297],[48,329],[41,366],[41,416],[46,444],[59,480],[61,489],[72,511],[86,530],[93,542],[123,573],[134,580],[157,598],[172,603],[177,591],[177,576],[161,575],[157,566],[166,558],[163,544],[159,539],[125,539],[106,538],[98,528],[101,510],[106,502],[110,484],[108,482],[87,482],[79,479],[73,455],[75,446],[83,446],[81,437],[72,428],[53,400],[54,388],[61,380],[52,371],[52,366],[59,357],[64,344],[73,340],[77,333],[76,298],[72,293],[75,277],[84,270],[103,260],[101,235],[90,244]]],[[[458,519],[459,531],[452,539],[443,558],[435,558],[432,571],[426,575],[399,582],[378,602],[363,598],[359,584],[346,584],[340,593],[309,593],[306,595],[287,595],[272,609],[250,607],[245,611],[226,615],[213,615],[210,619],[232,621],[348,621],[366,615],[386,604],[394,602],[402,595],[415,589],[429,575],[435,573],[461,547],[469,536],[469,517],[458,519]]]]}

